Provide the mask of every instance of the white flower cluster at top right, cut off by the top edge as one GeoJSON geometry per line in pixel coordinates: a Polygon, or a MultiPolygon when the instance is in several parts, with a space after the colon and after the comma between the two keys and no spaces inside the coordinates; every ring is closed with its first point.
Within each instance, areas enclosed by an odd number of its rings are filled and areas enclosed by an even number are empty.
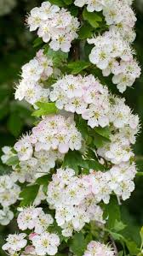
{"type": "Polygon", "coordinates": [[[121,34],[124,40],[133,42],[135,33],[133,31],[136,17],[131,9],[132,1],[126,0],[75,0],[75,5],[83,7],[87,5],[89,12],[102,10],[106,24],[114,31],[121,34]]]}

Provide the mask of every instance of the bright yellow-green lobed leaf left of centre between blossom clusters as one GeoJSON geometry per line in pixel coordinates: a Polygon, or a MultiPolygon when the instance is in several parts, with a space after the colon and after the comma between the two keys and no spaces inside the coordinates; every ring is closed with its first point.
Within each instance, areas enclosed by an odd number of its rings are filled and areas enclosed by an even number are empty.
{"type": "Polygon", "coordinates": [[[39,110],[34,111],[31,116],[47,116],[50,114],[56,114],[58,109],[55,106],[55,103],[43,103],[43,102],[37,102],[37,107],[39,107],[39,110]]]}

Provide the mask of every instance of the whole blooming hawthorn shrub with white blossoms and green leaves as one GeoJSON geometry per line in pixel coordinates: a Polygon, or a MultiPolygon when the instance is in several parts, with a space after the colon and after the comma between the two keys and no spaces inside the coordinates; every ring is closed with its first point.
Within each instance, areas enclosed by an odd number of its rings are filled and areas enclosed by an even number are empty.
{"type": "Polygon", "coordinates": [[[20,230],[3,245],[10,256],[142,249],[124,235],[120,214],[134,191],[132,146],[140,131],[139,117],[119,95],[140,76],[131,5],[51,0],[27,16],[38,51],[22,67],[15,99],[31,104],[36,122],[2,149],[11,171],[0,176],[0,223],[9,224],[16,211],[20,230]]]}

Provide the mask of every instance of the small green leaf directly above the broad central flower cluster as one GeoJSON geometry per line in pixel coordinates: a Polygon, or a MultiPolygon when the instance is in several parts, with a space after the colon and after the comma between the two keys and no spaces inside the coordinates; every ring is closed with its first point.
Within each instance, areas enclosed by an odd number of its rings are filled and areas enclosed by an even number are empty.
{"type": "Polygon", "coordinates": [[[89,68],[90,63],[84,61],[77,61],[73,63],[69,63],[67,65],[68,68],[72,69],[72,74],[79,74],[83,69],[89,68]]]}

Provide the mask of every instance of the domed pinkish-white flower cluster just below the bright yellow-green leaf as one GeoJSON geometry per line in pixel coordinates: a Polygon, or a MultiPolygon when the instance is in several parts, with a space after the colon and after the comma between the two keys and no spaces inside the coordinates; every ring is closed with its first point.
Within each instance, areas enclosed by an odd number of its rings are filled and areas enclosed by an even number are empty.
{"type": "Polygon", "coordinates": [[[31,140],[37,152],[58,150],[66,153],[69,149],[79,150],[82,146],[82,135],[77,131],[72,117],[60,115],[47,116],[32,128],[31,140]]]}

